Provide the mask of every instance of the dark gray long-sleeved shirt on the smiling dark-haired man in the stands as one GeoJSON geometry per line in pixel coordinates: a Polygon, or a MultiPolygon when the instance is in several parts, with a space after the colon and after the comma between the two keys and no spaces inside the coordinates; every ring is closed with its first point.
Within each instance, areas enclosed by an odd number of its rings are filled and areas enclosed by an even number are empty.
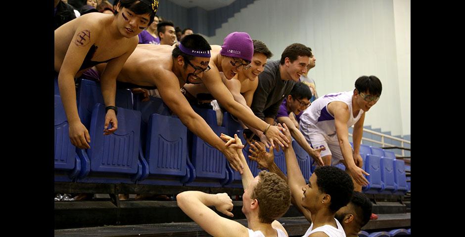
{"type": "Polygon", "coordinates": [[[282,100],[289,95],[295,82],[282,80],[279,60],[268,60],[263,73],[258,75],[258,86],[250,107],[258,118],[276,118],[282,100]]]}

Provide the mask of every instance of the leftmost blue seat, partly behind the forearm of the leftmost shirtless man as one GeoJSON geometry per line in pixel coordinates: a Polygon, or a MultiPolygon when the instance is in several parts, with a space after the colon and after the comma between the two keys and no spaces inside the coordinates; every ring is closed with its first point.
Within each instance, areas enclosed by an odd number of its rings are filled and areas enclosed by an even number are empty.
{"type": "Polygon", "coordinates": [[[54,167],[55,181],[70,182],[81,171],[81,160],[69,139],[69,124],[59,95],[55,95],[54,167]]]}

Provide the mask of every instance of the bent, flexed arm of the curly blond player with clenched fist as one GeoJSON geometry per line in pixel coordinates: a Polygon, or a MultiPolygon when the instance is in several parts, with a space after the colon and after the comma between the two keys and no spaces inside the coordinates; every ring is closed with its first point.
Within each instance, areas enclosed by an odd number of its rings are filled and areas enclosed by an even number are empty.
{"type": "Polygon", "coordinates": [[[186,191],[176,197],[178,206],[208,234],[215,237],[244,237],[247,228],[233,220],[219,216],[208,206],[233,217],[233,200],[228,194],[205,194],[199,191],[186,191]]]}

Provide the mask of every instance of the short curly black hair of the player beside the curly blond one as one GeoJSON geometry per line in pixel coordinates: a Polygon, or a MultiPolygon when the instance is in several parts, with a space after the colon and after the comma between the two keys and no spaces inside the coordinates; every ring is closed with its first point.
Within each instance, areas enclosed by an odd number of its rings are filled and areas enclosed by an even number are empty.
{"type": "Polygon", "coordinates": [[[318,189],[331,196],[331,212],[335,213],[349,203],[354,193],[354,183],[345,171],[334,166],[318,166],[315,174],[318,189]]]}

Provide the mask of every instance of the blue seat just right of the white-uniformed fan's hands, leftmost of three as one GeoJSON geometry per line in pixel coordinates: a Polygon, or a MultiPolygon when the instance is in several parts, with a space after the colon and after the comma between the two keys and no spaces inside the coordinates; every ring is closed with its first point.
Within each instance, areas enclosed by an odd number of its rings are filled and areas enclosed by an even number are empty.
{"type": "Polygon", "coordinates": [[[365,159],[365,171],[370,175],[365,176],[369,182],[368,186],[363,187],[362,190],[367,194],[377,194],[383,189],[383,182],[381,180],[381,157],[375,155],[367,155],[365,159]]]}

